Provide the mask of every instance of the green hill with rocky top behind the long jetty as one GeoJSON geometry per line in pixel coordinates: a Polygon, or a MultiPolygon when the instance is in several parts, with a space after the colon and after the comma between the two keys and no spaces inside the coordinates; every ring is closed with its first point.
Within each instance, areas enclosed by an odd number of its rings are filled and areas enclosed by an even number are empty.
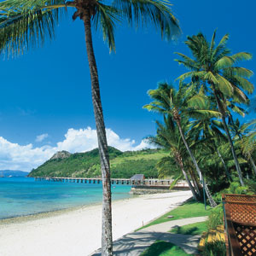
{"type": "MultiPolygon", "coordinates": [[[[166,153],[161,149],[144,149],[121,152],[108,147],[111,177],[130,178],[143,173],[145,177],[157,177],[155,165],[166,153]]],[[[85,153],[70,154],[67,151],[56,153],[42,166],[33,169],[30,177],[101,177],[98,149],[85,153]]]]}

